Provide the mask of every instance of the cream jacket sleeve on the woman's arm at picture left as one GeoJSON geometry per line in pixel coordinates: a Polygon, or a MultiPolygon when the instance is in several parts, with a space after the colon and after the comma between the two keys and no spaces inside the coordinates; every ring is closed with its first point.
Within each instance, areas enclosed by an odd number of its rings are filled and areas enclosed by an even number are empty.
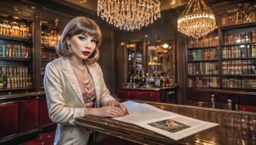
{"type": "Polygon", "coordinates": [[[49,117],[54,123],[73,124],[74,118],[84,116],[84,107],[83,105],[77,107],[79,102],[75,101],[76,94],[72,93],[74,91],[71,86],[64,82],[65,76],[61,72],[61,67],[54,63],[49,63],[45,68],[44,77],[49,117]],[[67,89],[70,89],[70,91],[67,91],[67,89]],[[72,98],[74,102],[68,103],[68,100],[72,98]]]}

